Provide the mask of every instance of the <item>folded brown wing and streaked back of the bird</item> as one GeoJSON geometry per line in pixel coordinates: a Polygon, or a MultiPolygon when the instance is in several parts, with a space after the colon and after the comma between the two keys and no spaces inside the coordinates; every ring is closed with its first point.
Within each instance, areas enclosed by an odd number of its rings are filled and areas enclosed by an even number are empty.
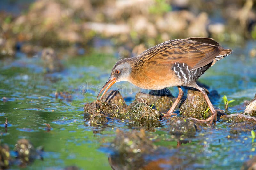
{"type": "Polygon", "coordinates": [[[186,63],[195,70],[211,63],[220,54],[219,44],[210,38],[187,38],[166,41],[141,53],[138,64],[186,63]]]}

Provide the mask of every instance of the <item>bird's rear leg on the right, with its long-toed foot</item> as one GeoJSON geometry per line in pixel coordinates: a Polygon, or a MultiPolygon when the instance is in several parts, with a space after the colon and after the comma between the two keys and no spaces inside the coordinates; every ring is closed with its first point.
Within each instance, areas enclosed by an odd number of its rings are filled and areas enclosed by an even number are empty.
{"type": "Polygon", "coordinates": [[[200,120],[200,119],[196,119],[196,118],[189,118],[189,119],[193,119],[193,120],[196,120],[196,121],[201,122],[201,123],[207,123],[207,122],[210,121],[210,124],[212,124],[214,119],[215,119],[215,121],[217,121],[217,112],[214,109],[214,107],[213,107],[209,97],[207,96],[207,93],[205,92],[204,88],[198,86],[196,83],[195,83],[195,85],[193,85],[191,87],[194,87],[194,88],[198,89],[201,93],[203,93],[204,98],[205,98],[205,100],[206,100],[206,102],[207,102],[207,104],[208,104],[208,106],[209,106],[209,108],[212,112],[212,115],[206,120],[200,120]]]}

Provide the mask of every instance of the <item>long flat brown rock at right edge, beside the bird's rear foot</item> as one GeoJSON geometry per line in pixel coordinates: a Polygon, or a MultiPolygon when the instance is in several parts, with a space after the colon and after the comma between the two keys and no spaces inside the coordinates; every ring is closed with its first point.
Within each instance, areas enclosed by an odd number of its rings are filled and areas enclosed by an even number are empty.
{"type": "Polygon", "coordinates": [[[242,113],[235,113],[231,115],[222,115],[220,119],[223,119],[228,122],[251,122],[253,124],[256,124],[256,117],[244,115],[242,113]]]}

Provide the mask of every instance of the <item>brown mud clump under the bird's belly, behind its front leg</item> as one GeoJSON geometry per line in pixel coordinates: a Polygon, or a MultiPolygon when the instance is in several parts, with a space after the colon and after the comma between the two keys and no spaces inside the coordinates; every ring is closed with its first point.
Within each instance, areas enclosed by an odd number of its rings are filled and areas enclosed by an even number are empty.
{"type": "Polygon", "coordinates": [[[153,108],[160,112],[167,112],[175,101],[175,97],[166,88],[162,90],[151,90],[149,94],[139,92],[135,95],[135,98],[144,99],[150,106],[153,106],[153,108]]]}

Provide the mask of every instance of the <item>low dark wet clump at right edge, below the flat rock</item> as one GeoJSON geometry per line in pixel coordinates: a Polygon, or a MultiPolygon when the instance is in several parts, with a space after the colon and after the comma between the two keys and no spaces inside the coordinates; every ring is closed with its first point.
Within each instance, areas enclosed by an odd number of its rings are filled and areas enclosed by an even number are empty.
{"type": "Polygon", "coordinates": [[[236,122],[229,126],[230,133],[239,134],[242,132],[250,133],[251,130],[255,130],[255,124],[252,122],[236,122]]]}

